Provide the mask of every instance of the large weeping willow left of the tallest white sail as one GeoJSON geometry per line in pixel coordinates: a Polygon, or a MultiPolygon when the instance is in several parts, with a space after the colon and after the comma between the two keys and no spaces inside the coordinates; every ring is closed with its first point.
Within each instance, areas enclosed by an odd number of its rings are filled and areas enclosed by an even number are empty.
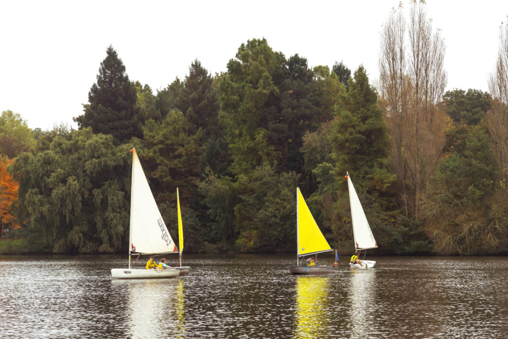
{"type": "Polygon", "coordinates": [[[126,248],[128,146],[91,129],[56,136],[49,149],[22,153],[14,165],[26,226],[54,253],[109,253],[126,248]]]}

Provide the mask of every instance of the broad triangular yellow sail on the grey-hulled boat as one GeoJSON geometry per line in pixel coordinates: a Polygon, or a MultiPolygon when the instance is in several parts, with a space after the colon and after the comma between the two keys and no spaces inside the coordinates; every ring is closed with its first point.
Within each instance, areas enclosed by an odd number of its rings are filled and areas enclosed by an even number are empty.
{"type": "Polygon", "coordinates": [[[331,251],[323,233],[312,217],[300,189],[297,188],[297,237],[298,255],[331,251]]]}

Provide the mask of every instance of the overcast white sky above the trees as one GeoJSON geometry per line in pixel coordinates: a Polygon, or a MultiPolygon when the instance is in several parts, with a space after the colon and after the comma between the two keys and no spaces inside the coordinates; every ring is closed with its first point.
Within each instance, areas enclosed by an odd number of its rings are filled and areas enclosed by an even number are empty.
{"type": "MultiPolygon", "coordinates": [[[[266,38],[310,67],[335,61],[378,77],[379,35],[399,0],[335,1],[1,1],[0,112],[52,129],[83,113],[111,44],[131,80],[154,94],[183,79],[196,58],[227,70],[238,47],[266,38]]],[[[407,9],[409,2],[402,2],[407,9]]],[[[448,88],[488,91],[508,1],[427,0],[447,46],[448,88]]]]}

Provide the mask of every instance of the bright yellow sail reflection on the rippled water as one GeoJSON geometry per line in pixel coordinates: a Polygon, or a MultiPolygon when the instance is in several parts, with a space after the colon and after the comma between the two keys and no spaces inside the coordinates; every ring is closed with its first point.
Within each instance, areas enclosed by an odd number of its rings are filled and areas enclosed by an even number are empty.
{"type": "Polygon", "coordinates": [[[326,334],[328,324],[328,276],[299,275],[296,281],[296,338],[326,334]]]}

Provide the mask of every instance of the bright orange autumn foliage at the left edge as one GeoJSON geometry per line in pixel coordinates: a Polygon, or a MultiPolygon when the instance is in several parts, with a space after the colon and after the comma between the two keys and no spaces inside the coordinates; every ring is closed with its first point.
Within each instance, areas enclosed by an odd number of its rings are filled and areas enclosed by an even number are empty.
{"type": "Polygon", "coordinates": [[[12,164],[14,160],[0,157],[0,226],[19,228],[10,212],[13,202],[18,198],[19,188],[19,183],[7,172],[7,167],[12,164]]]}

